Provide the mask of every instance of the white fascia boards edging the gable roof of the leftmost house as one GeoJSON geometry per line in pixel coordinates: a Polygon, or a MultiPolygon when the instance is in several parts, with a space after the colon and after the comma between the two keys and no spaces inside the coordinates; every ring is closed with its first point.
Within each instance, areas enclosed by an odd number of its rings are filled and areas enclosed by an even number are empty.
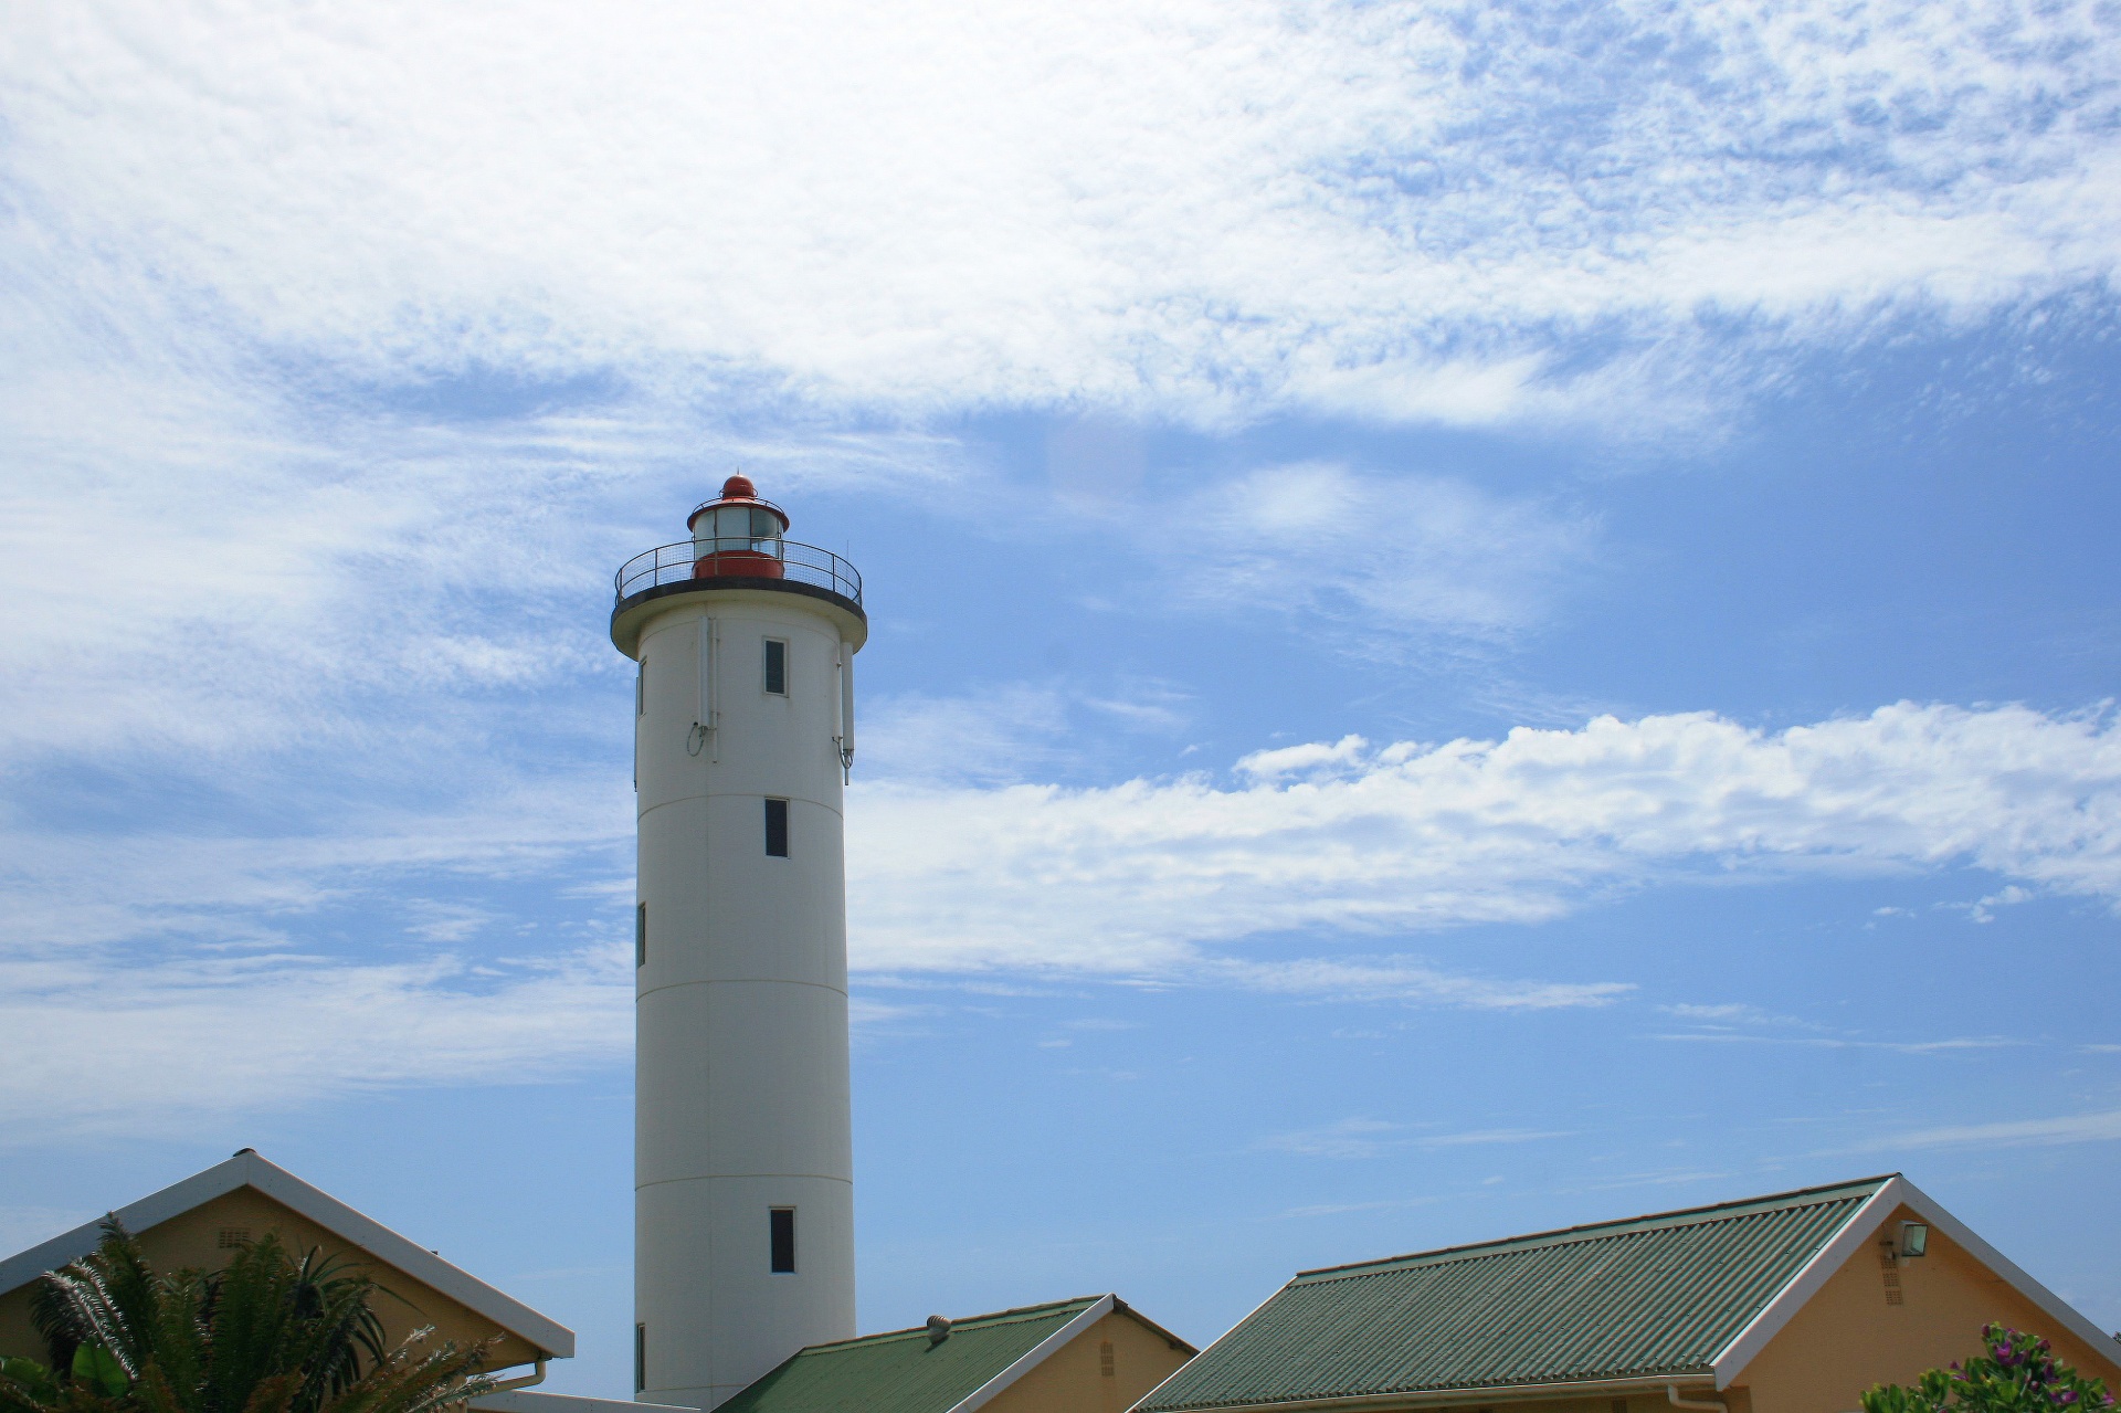
{"type": "MultiPolygon", "coordinates": [[[[255,1152],[240,1152],[225,1163],[216,1163],[204,1173],[193,1173],[170,1184],[161,1192],[151,1192],[140,1201],[119,1207],[117,1218],[125,1231],[146,1231],[170,1218],[210,1203],[225,1192],[250,1186],[271,1197],[284,1207],[299,1211],[331,1235],[358,1245],[378,1260],[384,1260],[405,1275],[450,1296],[458,1305],[473,1309],[509,1334],[539,1347],[547,1358],[575,1358],[575,1332],[556,1320],[547,1320],[522,1301],[507,1296],[469,1271],[450,1264],[424,1245],[407,1241],[382,1222],[363,1216],[320,1188],[312,1188],[295,1173],[267,1163],[255,1152]]],[[[81,1260],[95,1250],[102,1239],[102,1220],[83,1222],[74,1231],[53,1237],[42,1245],[32,1245],[19,1256],[0,1260],[0,1294],[34,1281],[45,1271],[55,1271],[70,1260],[81,1260]]]]}

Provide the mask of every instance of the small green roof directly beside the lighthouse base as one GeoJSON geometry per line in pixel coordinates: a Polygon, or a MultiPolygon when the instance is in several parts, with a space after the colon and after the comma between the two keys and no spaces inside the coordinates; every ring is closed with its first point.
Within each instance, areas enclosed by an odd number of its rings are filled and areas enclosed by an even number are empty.
{"type": "Polygon", "coordinates": [[[921,1328],[810,1345],[717,1413],[944,1413],[1101,1298],[952,1320],[942,1343],[921,1328]]]}

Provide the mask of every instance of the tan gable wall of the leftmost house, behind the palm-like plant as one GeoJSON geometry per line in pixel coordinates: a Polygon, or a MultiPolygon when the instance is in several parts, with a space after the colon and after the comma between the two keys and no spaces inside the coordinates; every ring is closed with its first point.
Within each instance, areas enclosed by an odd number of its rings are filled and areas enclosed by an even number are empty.
{"type": "MultiPolygon", "coordinates": [[[[382,1318],[384,1332],[392,1345],[420,1326],[435,1326],[437,1339],[452,1339],[458,1345],[501,1334],[503,1341],[488,1358],[488,1368],[526,1364],[537,1358],[537,1349],[515,1334],[503,1332],[501,1326],[486,1315],[458,1305],[450,1296],[416,1281],[397,1267],[384,1264],[369,1252],[333,1237],[316,1222],[276,1203],[257,1188],[235,1188],[233,1192],[225,1192],[193,1207],[191,1211],[161,1222],[159,1226],[151,1226],[134,1235],[140,1239],[148,1262],[153,1262],[157,1271],[178,1271],[182,1267],[218,1271],[235,1254],[233,1250],[221,1245],[223,1228],[244,1231],[252,1239],[263,1237],[267,1231],[278,1231],[280,1239],[297,1252],[305,1252],[316,1245],[327,1254],[337,1254],[365,1267],[367,1273],[384,1286],[384,1290],[399,1296],[397,1301],[388,1296],[380,1298],[373,1307],[382,1318]]],[[[0,1294],[0,1354],[28,1356],[34,1360],[47,1358],[45,1341],[38,1337],[36,1326],[30,1324],[32,1290],[34,1286],[21,1286],[0,1294]]]]}

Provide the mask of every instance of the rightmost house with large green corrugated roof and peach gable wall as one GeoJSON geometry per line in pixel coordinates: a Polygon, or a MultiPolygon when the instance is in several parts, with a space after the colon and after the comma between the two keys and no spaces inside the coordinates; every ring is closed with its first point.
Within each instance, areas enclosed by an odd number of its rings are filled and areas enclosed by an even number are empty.
{"type": "Polygon", "coordinates": [[[1847,1413],[2004,1324],[2121,1343],[1900,1175],[1304,1271],[1139,1413],[1847,1413]]]}

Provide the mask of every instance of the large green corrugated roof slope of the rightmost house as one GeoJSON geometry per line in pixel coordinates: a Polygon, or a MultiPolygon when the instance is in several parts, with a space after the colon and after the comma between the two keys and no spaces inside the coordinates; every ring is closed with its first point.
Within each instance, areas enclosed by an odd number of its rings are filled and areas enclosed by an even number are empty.
{"type": "Polygon", "coordinates": [[[1707,1373],[1886,1182],[1304,1271],[1137,1411],[1707,1373]]]}

